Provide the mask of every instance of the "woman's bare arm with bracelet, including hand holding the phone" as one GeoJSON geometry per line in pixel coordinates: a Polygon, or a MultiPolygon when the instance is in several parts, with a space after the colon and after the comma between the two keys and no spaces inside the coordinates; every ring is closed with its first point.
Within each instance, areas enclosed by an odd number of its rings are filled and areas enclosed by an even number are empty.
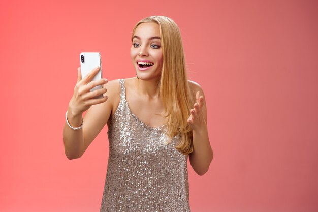
{"type": "Polygon", "coordinates": [[[107,88],[101,88],[89,92],[90,89],[97,85],[107,83],[107,79],[91,81],[93,76],[99,71],[93,69],[83,79],[81,78],[81,70],[78,68],[78,79],[74,88],[74,94],[70,100],[67,119],[72,127],[79,127],[83,121],[83,127],[80,130],[73,130],[65,123],[63,129],[63,140],[65,154],[68,159],[80,158],[89,144],[99,134],[107,123],[111,110],[112,101],[106,101],[108,96],[101,99],[93,97],[105,94],[107,88]],[[89,110],[88,110],[89,109],[89,110]],[[88,110],[82,119],[83,112],[88,110]]]}

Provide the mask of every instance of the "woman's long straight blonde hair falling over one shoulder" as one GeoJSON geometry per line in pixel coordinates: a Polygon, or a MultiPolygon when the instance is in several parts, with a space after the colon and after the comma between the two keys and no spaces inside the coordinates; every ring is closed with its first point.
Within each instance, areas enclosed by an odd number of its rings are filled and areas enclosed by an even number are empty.
{"type": "Polygon", "coordinates": [[[175,148],[182,154],[193,152],[193,131],[187,123],[192,108],[192,95],[186,76],[183,45],[179,27],[165,16],[150,16],[139,21],[141,23],[154,22],[160,27],[161,44],[163,48],[163,69],[160,80],[160,95],[165,107],[164,117],[167,117],[167,136],[173,139],[181,135],[181,142],[175,148]]]}

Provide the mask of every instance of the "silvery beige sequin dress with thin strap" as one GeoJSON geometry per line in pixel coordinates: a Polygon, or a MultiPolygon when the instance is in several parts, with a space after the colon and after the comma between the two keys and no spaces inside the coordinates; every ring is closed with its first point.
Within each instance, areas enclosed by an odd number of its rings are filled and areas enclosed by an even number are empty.
{"type": "Polygon", "coordinates": [[[120,103],[109,130],[109,159],[101,211],[190,211],[187,156],[167,144],[165,126],[133,114],[120,79],[120,103]]]}

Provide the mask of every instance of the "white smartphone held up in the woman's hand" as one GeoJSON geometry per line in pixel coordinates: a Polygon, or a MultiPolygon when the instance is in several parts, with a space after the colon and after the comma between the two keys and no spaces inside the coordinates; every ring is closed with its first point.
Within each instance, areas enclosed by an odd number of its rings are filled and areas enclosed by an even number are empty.
{"type": "MultiPolygon", "coordinates": [[[[81,73],[82,79],[88,74],[92,69],[99,66],[100,71],[93,77],[92,81],[102,79],[102,60],[101,54],[99,52],[82,52],[80,53],[81,60],[81,73]]],[[[90,92],[96,89],[102,88],[102,85],[98,85],[90,89],[90,92]]],[[[94,97],[95,99],[103,98],[103,94],[94,97]]]]}

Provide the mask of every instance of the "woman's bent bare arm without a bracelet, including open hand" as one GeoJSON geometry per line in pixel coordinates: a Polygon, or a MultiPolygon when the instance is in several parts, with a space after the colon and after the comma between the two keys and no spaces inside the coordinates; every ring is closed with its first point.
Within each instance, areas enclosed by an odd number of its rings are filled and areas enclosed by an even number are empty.
{"type": "Polygon", "coordinates": [[[207,128],[207,115],[203,90],[199,85],[197,88],[196,103],[190,110],[190,117],[187,123],[193,130],[193,152],[189,154],[192,168],[199,175],[205,174],[213,159],[213,151],[209,141],[207,128]]]}

